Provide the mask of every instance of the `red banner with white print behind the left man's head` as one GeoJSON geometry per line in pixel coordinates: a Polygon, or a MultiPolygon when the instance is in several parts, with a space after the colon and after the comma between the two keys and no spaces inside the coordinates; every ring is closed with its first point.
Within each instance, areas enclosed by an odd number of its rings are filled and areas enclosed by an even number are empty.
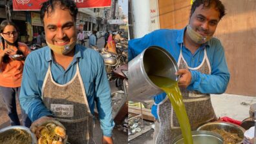
{"type": "MultiPolygon", "coordinates": [[[[40,10],[47,0],[13,0],[14,10],[40,10]]],[[[101,8],[111,6],[111,0],[73,0],[78,8],[101,8]]]]}

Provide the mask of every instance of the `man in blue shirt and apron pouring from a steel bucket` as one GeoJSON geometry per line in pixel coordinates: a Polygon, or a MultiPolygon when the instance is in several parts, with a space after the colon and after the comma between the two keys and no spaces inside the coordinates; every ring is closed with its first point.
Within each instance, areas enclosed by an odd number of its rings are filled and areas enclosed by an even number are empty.
{"type": "MultiPolygon", "coordinates": [[[[192,130],[216,119],[209,94],[222,94],[228,86],[224,48],[219,39],[212,37],[224,15],[225,8],[219,0],[195,0],[186,28],[156,30],[129,41],[129,60],[154,45],[165,48],[175,58],[180,69],[176,72],[180,75],[178,86],[192,130]]],[[[165,93],[154,99],[154,142],[171,143],[181,134],[175,112],[165,93]]]]}

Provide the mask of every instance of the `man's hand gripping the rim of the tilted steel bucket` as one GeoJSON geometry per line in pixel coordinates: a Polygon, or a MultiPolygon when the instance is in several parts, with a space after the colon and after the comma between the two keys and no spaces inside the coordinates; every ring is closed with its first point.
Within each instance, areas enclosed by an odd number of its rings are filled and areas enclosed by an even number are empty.
{"type": "Polygon", "coordinates": [[[186,88],[191,83],[191,72],[187,69],[180,69],[175,73],[176,75],[180,75],[180,80],[178,81],[178,86],[186,88]]]}

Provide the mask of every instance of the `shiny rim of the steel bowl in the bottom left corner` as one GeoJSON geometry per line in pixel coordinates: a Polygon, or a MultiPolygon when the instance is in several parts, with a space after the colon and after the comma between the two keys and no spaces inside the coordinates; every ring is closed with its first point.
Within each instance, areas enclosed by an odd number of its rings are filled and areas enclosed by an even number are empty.
{"type": "Polygon", "coordinates": [[[36,135],[34,133],[32,133],[30,131],[30,129],[28,129],[27,127],[23,127],[23,126],[9,126],[9,127],[5,127],[3,129],[0,130],[0,135],[3,134],[3,132],[6,132],[7,130],[25,130],[32,138],[32,143],[31,144],[36,144],[37,143],[37,139],[36,139],[36,135]]]}

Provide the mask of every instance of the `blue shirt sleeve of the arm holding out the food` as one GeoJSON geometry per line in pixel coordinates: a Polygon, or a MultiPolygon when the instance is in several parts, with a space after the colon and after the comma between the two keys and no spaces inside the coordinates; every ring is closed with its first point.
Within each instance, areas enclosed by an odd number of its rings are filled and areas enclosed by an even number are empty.
{"type": "Polygon", "coordinates": [[[39,94],[40,88],[37,83],[37,74],[35,70],[39,68],[33,63],[31,55],[27,56],[23,69],[23,79],[21,83],[21,92],[19,94],[19,102],[21,108],[32,121],[41,118],[42,116],[52,116],[39,94]]]}

